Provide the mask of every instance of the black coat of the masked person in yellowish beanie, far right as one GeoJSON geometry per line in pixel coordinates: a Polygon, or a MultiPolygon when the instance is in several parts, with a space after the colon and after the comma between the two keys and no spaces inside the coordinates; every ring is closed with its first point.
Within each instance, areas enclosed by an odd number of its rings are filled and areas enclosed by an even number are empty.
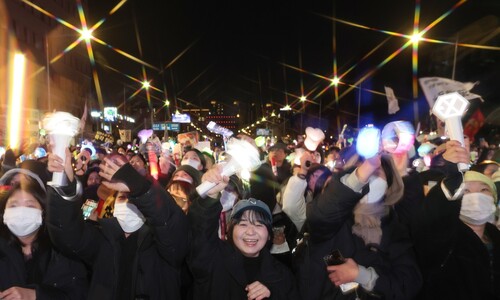
{"type": "MultiPolygon", "coordinates": [[[[456,170],[456,166],[455,166],[456,170]]],[[[462,175],[445,179],[450,191],[462,175]]],[[[432,188],[413,224],[415,249],[424,276],[419,299],[500,299],[500,231],[487,223],[492,256],[460,219],[461,198],[446,199],[441,184],[432,188]]]]}

